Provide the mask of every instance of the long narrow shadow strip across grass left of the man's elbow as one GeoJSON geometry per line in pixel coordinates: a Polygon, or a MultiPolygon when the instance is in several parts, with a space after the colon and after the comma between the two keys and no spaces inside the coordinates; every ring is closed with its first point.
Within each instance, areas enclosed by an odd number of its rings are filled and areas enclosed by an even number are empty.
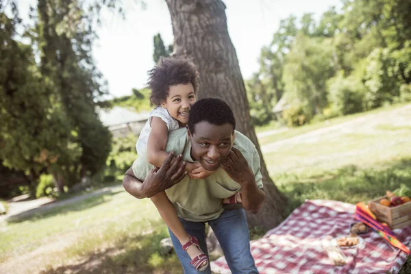
{"type": "Polygon", "coordinates": [[[31,210],[10,216],[10,218],[7,219],[7,222],[21,223],[27,220],[46,219],[57,214],[82,211],[87,208],[92,208],[93,206],[98,206],[101,203],[105,203],[107,201],[107,197],[112,197],[120,192],[123,192],[123,190],[107,190],[83,199],[82,197],[75,197],[65,201],[52,201],[50,203],[45,203],[38,208],[33,208],[31,210]],[[79,203],[79,201],[81,201],[81,203],[79,203]]]}

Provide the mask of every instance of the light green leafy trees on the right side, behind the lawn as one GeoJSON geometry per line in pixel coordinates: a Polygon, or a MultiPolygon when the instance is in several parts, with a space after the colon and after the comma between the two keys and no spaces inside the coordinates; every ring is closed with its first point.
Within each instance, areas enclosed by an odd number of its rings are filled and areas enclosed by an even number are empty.
{"type": "Polygon", "coordinates": [[[295,109],[302,104],[307,117],[409,100],[410,10],[408,0],[353,0],[343,1],[342,10],[329,8],[318,22],[312,14],[283,19],[249,80],[253,119],[266,123],[283,95],[295,109]]]}

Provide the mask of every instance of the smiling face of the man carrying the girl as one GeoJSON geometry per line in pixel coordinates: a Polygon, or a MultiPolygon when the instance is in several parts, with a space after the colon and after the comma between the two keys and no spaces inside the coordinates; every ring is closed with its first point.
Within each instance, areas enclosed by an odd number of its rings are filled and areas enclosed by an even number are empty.
{"type": "Polygon", "coordinates": [[[231,151],[234,137],[233,126],[229,123],[224,125],[212,125],[206,121],[197,123],[194,134],[188,130],[191,156],[200,162],[203,169],[215,171],[231,151]]]}

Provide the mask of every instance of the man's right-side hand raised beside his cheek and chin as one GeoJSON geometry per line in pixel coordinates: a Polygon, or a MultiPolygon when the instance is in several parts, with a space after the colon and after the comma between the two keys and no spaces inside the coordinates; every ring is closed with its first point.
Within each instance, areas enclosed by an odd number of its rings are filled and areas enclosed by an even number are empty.
{"type": "Polygon", "coordinates": [[[240,185],[253,182],[255,179],[247,160],[245,160],[242,153],[235,147],[232,147],[232,151],[230,151],[227,158],[223,160],[221,167],[229,177],[240,185]]]}

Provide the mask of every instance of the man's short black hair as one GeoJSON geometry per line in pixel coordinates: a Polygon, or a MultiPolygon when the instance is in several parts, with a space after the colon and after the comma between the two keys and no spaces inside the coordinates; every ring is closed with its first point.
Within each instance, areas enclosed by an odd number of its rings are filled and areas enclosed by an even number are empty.
{"type": "Polygon", "coordinates": [[[192,105],[188,116],[188,129],[194,134],[197,123],[206,121],[212,125],[224,125],[229,123],[236,129],[236,119],[232,109],[225,101],[217,98],[204,98],[192,105]]]}

